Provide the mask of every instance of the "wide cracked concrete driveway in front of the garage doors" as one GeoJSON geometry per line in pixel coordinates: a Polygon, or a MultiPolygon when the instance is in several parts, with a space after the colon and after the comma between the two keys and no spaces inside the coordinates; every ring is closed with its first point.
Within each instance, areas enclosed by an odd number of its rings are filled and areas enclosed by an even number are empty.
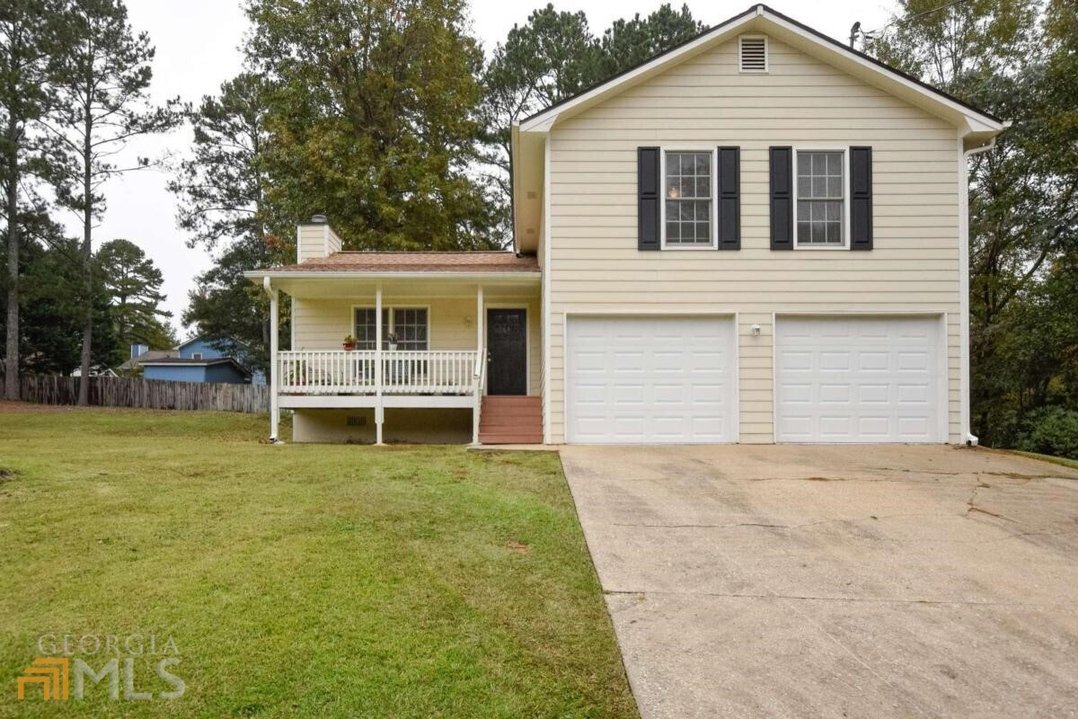
{"type": "Polygon", "coordinates": [[[562,460],[645,719],[1078,716],[1078,472],[944,446],[562,460]]]}

